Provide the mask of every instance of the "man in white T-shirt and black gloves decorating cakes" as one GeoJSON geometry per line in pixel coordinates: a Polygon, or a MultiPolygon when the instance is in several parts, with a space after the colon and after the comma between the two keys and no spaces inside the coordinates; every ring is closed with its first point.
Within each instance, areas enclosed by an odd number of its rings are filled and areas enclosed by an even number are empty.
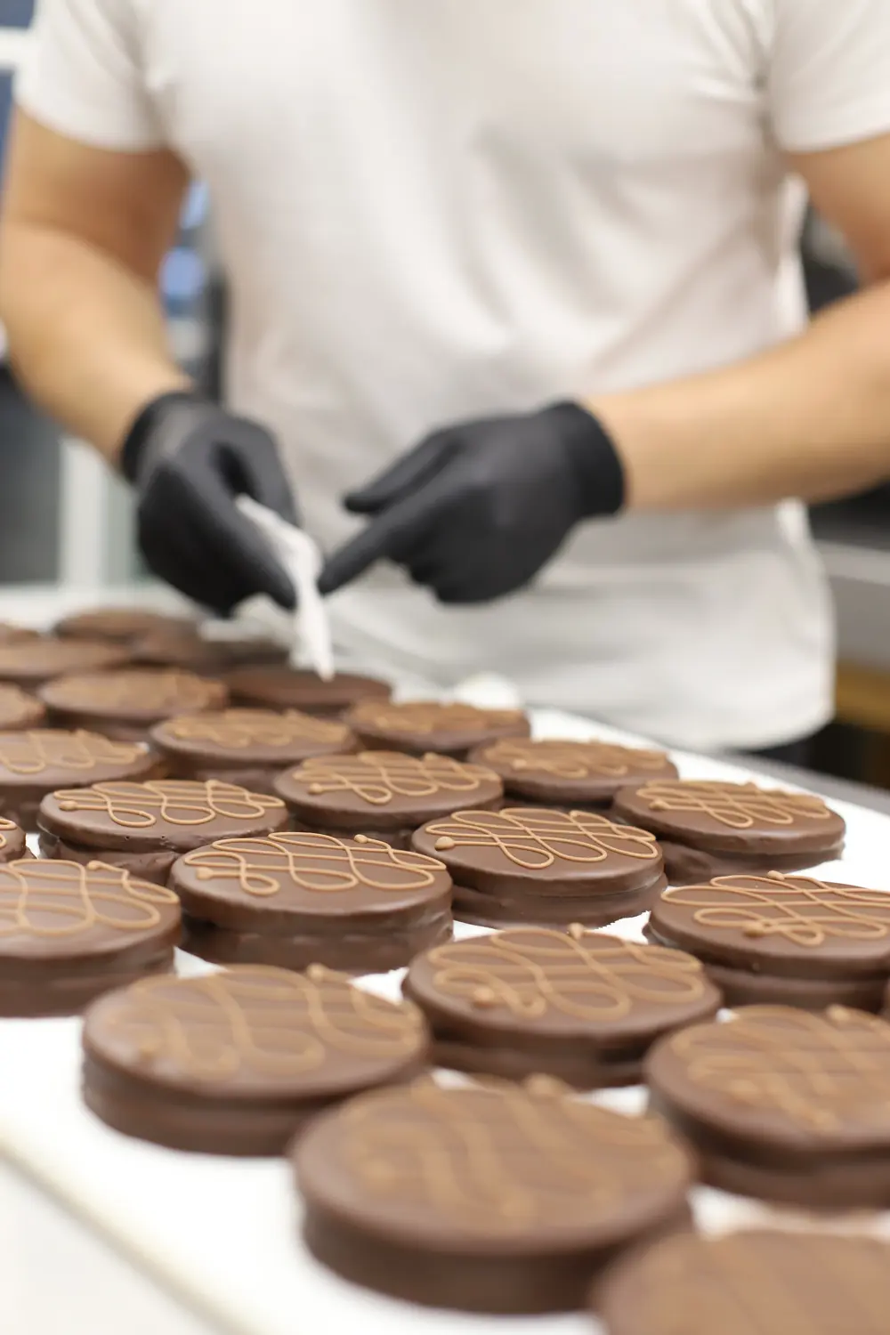
{"type": "Polygon", "coordinates": [[[368,665],[698,748],[825,722],[782,502],[890,477],[887,0],[44,0],[35,43],[0,316],[159,574],[287,605],[232,498],[292,489],[368,665]],[[228,413],[156,300],[192,175],[228,413]],[[793,176],[869,284],[803,334],[793,176]]]}

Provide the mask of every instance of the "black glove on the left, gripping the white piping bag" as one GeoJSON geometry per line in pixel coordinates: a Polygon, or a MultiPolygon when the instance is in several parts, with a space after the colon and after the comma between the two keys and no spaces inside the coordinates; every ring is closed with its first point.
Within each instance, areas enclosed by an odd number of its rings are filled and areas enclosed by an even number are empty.
{"type": "Polygon", "coordinates": [[[291,581],[235,505],[247,494],[296,522],[268,431],[197,394],[164,394],[137,417],[120,462],[139,497],[139,546],[156,575],[223,615],[256,593],[294,607],[291,581]]]}

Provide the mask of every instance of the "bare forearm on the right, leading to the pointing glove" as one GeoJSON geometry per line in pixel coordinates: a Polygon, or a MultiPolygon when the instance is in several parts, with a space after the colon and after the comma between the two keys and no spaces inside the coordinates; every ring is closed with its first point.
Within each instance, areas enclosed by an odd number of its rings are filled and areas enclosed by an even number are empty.
{"type": "Polygon", "coordinates": [[[890,283],[726,370],[588,400],[636,510],[766,505],[890,477],[890,283]]]}

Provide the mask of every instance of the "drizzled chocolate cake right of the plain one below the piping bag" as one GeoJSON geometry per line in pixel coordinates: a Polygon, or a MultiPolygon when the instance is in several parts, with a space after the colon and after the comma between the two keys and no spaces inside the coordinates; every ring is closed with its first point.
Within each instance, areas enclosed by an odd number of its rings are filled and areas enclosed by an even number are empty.
{"type": "Polygon", "coordinates": [[[476,709],[475,705],[418,700],[402,705],[364,700],[346,714],[363,746],[426,756],[436,752],[466,760],[480,742],[496,737],[527,737],[528,718],[520,709],[476,709]]]}

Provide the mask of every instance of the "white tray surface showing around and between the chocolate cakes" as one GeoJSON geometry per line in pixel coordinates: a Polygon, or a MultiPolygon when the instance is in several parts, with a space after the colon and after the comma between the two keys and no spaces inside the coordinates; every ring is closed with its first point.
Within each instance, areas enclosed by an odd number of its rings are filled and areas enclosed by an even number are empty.
{"type": "MultiPolygon", "coordinates": [[[[584,720],[551,712],[539,736],[620,738],[584,720]]],[[[626,738],[624,738],[626,740],[626,738]]],[[[697,778],[757,777],[693,756],[677,756],[697,778]]],[[[834,804],[847,820],[847,853],[822,870],[833,880],[890,889],[890,817],[834,804]]],[[[639,939],[643,918],[610,932],[639,939]]],[[[462,932],[472,934],[474,928],[462,932]]],[[[180,956],[183,972],[205,965],[180,956]]],[[[398,996],[399,975],[362,980],[398,996]]],[[[308,1255],[299,1208],[282,1160],[187,1155],[141,1144],[88,1113],[80,1103],[80,1021],[0,1021],[0,1152],[108,1235],[143,1270],[235,1335],[591,1335],[583,1314],[482,1318],[430,1311],[347,1284],[308,1255]]],[[[642,1089],[595,1096],[639,1108],[642,1089]]],[[[723,1230],[755,1220],[795,1222],[793,1212],[697,1188],[701,1226],[723,1230]]],[[[814,1226],[811,1220],[807,1222],[814,1226]]],[[[890,1212],[835,1219],[890,1236],[890,1212]]],[[[826,1227],[821,1223],[818,1227],[826,1227]]],[[[48,1275],[48,1282],[52,1282],[48,1275]]],[[[123,1327],[121,1327],[123,1328],[123,1327]]]]}

